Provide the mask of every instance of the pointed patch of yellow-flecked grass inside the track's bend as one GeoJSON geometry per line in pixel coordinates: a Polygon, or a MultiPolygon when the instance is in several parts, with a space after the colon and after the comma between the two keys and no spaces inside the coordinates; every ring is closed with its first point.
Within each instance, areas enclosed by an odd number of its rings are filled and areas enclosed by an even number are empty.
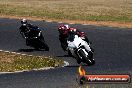
{"type": "Polygon", "coordinates": [[[63,61],[59,59],[0,52],[0,72],[32,70],[43,67],[55,67],[62,64],[63,61]]]}

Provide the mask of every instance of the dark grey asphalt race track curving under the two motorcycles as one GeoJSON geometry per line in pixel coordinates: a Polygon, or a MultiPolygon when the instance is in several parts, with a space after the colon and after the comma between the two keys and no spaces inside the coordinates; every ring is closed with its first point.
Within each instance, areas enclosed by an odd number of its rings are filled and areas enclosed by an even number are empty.
{"type": "MultiPolygon", "coordinates": [[[[59,23],[30,21],[43,29],[50,51],[35,51],[25,45],[18,28],[20,20],[0,19],[0,49],[32,55],[57,57],[70,63],[67,67],[44,71],[15,74],[0,74],[0,88],[131,88],[128,84],[85,84],[76,82],[78,64],[68,57],[60,47],[57,27],[59,23]],[[87,87],[88,86],[88,87],[87,87]]],[[[99,27],[72,24],[87,33],[95,49],[94,66],[83,66],[87,74],[130,74],[132,75],[132,29],[99,27]]]]}

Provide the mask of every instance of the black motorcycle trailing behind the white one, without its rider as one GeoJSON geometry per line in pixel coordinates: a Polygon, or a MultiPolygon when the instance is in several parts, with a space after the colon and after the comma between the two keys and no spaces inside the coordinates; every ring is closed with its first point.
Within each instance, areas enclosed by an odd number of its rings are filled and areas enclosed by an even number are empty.
{"type": "Polygon", "coordinates": [[[49,46],[45,43],[42,31],[38,27],[32,27],[26,32],[20,32],[26,39],[26,45],[34,47],[36,50],[49,51],[49,46]]]}

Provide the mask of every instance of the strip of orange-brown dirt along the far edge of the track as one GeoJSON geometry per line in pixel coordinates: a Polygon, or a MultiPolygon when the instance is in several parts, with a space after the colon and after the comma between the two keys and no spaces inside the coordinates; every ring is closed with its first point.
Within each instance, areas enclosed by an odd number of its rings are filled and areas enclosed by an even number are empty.
{"type": "Polygon", "coordinates": [[[81,21],[81,20],[56,20],[56,19],[47,19],[47,18],[38,18],[38,17],[28,17],[28,16],[8,16],[1,15],[0,18],[9,18],[9,19],[23,19],[28,20],[39,20],[39,21],[56,21],[56,22],[65,22],[71,24],[87,24],[87,25],[96,25],[96,26],[108,26],[108,27],[120,27],[120,28],[132,28],[132,22],[113,22],[113,21],[81,21]]]}

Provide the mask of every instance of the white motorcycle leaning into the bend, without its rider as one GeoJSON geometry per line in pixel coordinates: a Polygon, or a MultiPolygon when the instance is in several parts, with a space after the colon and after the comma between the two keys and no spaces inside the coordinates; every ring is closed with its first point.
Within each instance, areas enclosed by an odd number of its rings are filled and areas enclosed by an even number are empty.
{"type": "Polygon", "coordinates": [[[68,53],[71,56],[77,59],[77,63],[81,62],[86,63],[87,65],[95,64],[95,60],[93,59],[93,52],[90,48],[90,45],[82,40],[78,35],[72,35],[67,40],[68,43],[68,53]]]}

